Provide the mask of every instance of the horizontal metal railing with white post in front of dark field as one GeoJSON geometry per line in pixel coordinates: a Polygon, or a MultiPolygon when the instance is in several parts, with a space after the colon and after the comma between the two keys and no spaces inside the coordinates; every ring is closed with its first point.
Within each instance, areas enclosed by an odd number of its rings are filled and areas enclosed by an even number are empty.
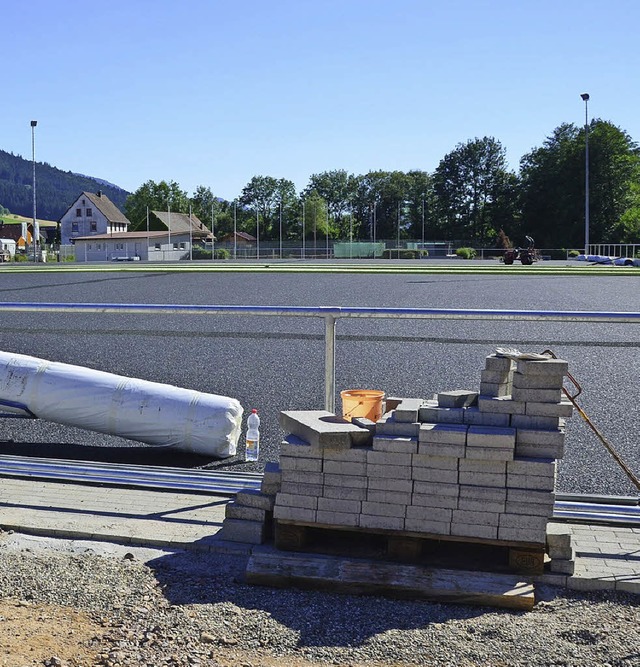
{"type": "Polygon", "coordinates": [[[574,310],[490,310],[480,308],[357,308],[339,306],[205,306],[188,304],[122,303],[0,303],[1,312],[25,313],[137,313],[171,315],[260,315],[268,317],[320,317],[325,334],[325,410],[335,412],[336,322],[345,318],[423,320],[514,320],[518,322],[592,322],[640,324],[640,312],[574,310]]]}

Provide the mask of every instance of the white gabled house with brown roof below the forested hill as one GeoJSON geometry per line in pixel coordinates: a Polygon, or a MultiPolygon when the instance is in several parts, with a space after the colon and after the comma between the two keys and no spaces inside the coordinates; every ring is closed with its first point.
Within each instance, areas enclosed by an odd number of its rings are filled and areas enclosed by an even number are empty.
{"type": "Polygon", "coordinates": [[[80,237],[118,234],[126,232],[130,224],[102,192],[83,192],[60,218],[60,241],[69,245],[80,237]]]}

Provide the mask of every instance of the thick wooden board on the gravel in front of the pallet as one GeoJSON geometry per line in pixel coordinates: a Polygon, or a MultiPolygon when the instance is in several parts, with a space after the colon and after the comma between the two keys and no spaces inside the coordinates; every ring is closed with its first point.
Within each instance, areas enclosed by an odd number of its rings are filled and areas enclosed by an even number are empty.
{"type": "Polygon", "coordinates": [[[469,572],[315,554],[253,551],[249,584],[311,588],[351,595],[383,595],[530,610],[531,582],[511,574],[469,572]]]}

